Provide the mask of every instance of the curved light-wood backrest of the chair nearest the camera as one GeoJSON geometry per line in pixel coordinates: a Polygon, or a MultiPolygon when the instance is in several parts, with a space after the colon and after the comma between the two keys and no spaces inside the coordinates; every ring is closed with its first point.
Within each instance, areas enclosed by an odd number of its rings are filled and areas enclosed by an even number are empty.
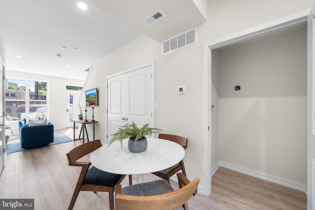
{"type": "Polygon", "coordinates": [[[174,192],[155,196],[130,196],[118,194],[116,210],[174,210],[187,203],[198,188],[199,179],[174,192]]]}

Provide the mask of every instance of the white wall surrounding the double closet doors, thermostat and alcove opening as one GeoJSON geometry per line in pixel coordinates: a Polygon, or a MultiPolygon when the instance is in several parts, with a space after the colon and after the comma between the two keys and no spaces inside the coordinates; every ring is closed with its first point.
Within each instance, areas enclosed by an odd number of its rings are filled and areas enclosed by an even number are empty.
{"type": "MultiPolygon", "coordinates": [[[[106,76],[155,61],[155,126],[165,133],[189,139],[184,158],[189,179],[203,185],[203,43],[310,8],[314,0],[208,0],[207,22],[198,26],[198,43],[161,55],[161,43],[139,36],[96,61],[86,90],[97,86],[100,106],[95,108],[96,138],[106,139],[106,76]],[[177,95],[178,86],[187,94],[177,95]]],[[[88,113],[91,115],[92,113],[88,113]]],[[[210,152],[210,151],[209,151],[210,152]]]]}

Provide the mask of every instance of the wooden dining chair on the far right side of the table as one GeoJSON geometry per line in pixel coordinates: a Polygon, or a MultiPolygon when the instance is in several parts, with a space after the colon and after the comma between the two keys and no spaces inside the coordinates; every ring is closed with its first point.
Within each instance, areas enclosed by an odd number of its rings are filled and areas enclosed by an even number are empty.
{"type": "MultiPolygon", "coordinates": [[[[172,142],[176,142],[177,144],[181,145],[185,150],[187,148],[187,143],[188,143],[188,139],[185,137],[181,137],[181,136],[176,136],[176,135],[171,135],[171,134],[163,134],[160,133],[158,135],[159,139],[166,139],[172,142]]],[[[179,163],[177,163],[176,165],[158,171],[158,172],[153,172],[152,174],[167,180],[169,182],[169,178],[171,176],[173,176],[174,174],[176,174],[177,172],[179,172],[180,170],[182,170],[183,174],[186,176],[186,171],[185,171],[185,166],[184,166],[184,160],[181,160],[179,163]]]]}

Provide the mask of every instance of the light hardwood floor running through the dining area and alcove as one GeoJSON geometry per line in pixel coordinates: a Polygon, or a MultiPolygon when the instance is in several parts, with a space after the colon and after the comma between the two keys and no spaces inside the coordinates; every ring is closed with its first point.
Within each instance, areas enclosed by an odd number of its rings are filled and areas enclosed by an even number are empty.
{"type": "MultiPolygon", "coordinates": [[[[71,130],[62,131],[73,138],[71,130]]],[[[79,167],[68,165],[66,153],[80,144],[68,142],[7,155],[0,175],[0,198],[33,198],[35,210],[66,210],[80,173],[79,167]]],[[[156,179],[151,174],[144,177],[144,181],[156,179]]],[[[122,184],[128,184],[127,176],[122,184]]],[[[171,184],[178,188],[177,183],[171,184]]],[[[213,176],[211,195],[197,194],[189,200],[189,210],[306,210],[306,206],[301,191],[222,167],[213,176]]],[[[108,210],[107,193],[80,192],[74,209],[108,210]]]]}

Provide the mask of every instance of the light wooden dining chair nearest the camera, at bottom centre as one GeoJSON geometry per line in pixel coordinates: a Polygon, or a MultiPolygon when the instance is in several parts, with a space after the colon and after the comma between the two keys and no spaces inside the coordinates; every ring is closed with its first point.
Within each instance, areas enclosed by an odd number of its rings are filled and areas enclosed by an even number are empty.
{"type": "Polygon", "coordinates": [[[199,179],[191,182],[177,174],[179,189],[173,190],[166,180],[115,186],[116,210],[188,210],[188,200],[197,193],[199,179]]]}

